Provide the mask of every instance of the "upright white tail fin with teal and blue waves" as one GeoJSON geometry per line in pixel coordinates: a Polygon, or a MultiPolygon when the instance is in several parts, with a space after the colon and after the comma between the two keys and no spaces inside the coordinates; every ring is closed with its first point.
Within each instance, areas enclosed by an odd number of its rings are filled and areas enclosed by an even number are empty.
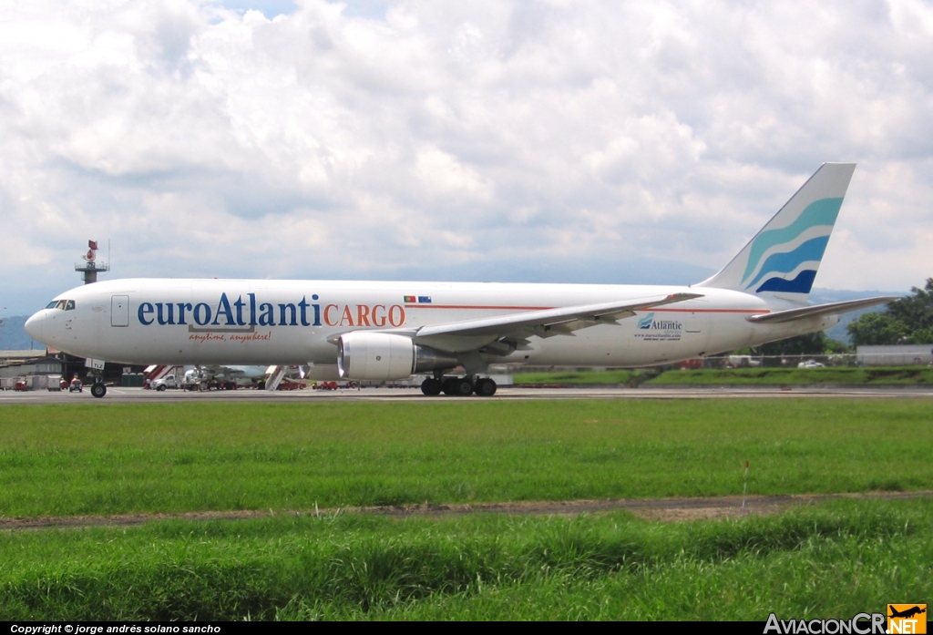
{"type": "Polygon", "coordinates": [[[824,163],[715,276],[695,286],[805,302],[855,163],[824,163]]]}

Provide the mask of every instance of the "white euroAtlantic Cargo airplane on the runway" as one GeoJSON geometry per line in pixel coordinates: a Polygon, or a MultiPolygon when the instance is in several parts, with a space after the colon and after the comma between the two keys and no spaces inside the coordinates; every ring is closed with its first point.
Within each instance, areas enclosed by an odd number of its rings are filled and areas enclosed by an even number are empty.
{"type": "Polygon", "coordinates": [[[814,333],[895,299],[806,303],[854,170],[825,163],[724,269],[686,287],[140,278],[67,291],[26,330],[123,364],[310,364],[315,379],[423,373],[428,395],[490,396],[491,364],[667,364],[814,333]]]}

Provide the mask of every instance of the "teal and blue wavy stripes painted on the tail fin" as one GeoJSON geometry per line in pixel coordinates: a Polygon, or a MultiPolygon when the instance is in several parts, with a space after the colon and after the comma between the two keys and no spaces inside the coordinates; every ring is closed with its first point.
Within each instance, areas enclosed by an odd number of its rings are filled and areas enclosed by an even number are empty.
{"type": "Polygon", "coordinates": [[[815,200],[787,227],[755,237],[742,277],[745,290],[810,293],[841,207],[842,198],[815,200]]]}

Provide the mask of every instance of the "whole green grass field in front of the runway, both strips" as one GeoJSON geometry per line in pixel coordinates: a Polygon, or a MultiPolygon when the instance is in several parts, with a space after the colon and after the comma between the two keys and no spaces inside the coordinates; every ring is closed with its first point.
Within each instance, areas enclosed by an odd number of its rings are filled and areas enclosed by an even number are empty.
{"type": "Polygon", "coordinates": [[[933,489],[927,400],[3,407],[0,619],[759,619],[926,601],[933,501],[769,518],[383,518],[314,504],[933,489]],[[287,513],[285,510],[305,510],[287,513]],[[274,516],[272,516],[274,514],[274,516]]]}

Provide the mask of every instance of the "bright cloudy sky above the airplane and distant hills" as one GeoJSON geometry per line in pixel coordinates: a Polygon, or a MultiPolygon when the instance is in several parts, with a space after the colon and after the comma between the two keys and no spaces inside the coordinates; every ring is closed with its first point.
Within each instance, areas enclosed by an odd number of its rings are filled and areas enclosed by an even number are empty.
{"type": "Polygon", "coordinates": [[[0,4],[0,317],[89,239],[102,279],[695,283],[824,161],[815,285],[933,276],[928,0],[0,4]]]}

